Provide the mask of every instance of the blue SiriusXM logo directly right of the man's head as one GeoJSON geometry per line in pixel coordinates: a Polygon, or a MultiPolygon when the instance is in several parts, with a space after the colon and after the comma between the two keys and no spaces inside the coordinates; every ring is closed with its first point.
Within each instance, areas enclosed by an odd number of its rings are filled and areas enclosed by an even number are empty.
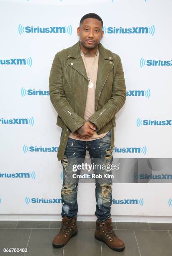
{"type": "Polygon", "coordinates": [[[155,26],[151,27],[132,27],[132,28],[116,28],[116,27],[105,27],[103,26],[104,33],[108,34],[150,34],[154,35],[155,26]]]}

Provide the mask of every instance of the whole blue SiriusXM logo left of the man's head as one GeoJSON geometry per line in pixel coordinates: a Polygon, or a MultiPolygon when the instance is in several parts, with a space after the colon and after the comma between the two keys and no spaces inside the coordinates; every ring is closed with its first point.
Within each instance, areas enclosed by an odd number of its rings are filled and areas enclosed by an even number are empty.
{"type": "Polygon", "coordinates": [[[71,36],[72,34],[72,26],[64,26],[64,27],[33,27],[33,26],[22,26],[19,24],[18,26],[18,32],[20,35],[22,33],[67,33],[68,35],[71,36]]]}

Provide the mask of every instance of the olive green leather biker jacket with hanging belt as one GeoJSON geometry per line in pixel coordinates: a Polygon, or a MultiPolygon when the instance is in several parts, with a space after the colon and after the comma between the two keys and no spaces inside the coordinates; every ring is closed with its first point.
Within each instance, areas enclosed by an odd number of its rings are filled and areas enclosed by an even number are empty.
{"type": "MultiPolygon", "coordinates": [[[[70,132],[76,133],[84,123],[88,78],[80,55],[80,41],[57,52],[52,63],[50,100],[58,113],[57,125],[64,128],[57,152],[62,160],[70,132]]],[[[114,148],[115,114],[126,100],[124,72],[120,56],[99,44],[99,61],[95,89],[95,113],[89,118],[97,127],[97,134],[111,130],[114,148]]]]}

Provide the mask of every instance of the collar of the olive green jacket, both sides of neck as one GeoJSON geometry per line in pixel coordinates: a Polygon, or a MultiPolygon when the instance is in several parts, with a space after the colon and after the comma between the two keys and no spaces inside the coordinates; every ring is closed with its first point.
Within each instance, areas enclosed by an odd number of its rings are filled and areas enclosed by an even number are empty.
{"type": "MultiPolygon", "coordinates": [[[[113,60],[112,54],[110,54],[110,51],[107,50],[102,44],[100,43],[99,46],[99,52],[102,55],[104,59],[113,60]]],[[[67,59],[69,58],[79,58],[80,57],[80,41],[78,41],[76,44],[74,44],[72,47],[70,47],[69,55],[67,59]]]]}

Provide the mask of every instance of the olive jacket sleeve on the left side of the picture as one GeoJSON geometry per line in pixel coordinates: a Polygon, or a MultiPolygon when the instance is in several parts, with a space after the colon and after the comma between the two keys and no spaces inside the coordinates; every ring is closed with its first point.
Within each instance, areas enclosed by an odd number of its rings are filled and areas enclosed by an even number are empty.
{"type": "Polygon", "coordinates": [[[52,105],[65,125],[72,131],[72,133],[75,133],[77,129],[85,123],[85,120],[74,112],[70,103],[66,100],[63,88],[63,69],[58,53],[55,55],[52,63],[49,87],[52,105]]]}

